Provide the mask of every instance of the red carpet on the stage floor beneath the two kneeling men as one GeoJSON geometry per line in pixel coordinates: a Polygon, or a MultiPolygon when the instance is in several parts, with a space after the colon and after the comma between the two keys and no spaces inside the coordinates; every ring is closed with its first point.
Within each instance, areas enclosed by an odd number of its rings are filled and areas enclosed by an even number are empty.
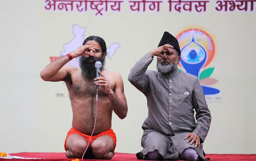
{"type": "MultiPolygon", "coordinates": [[[[23,152],[23,153],[12,153],[9,154],[11,156],[20,156],[25,158],[45,158],[45,159],[33,159],[33,161],[48,161],[48,160],[64,160],[64,161],[71,161],[72,159],[69,159],[66,157],[65,153],[29,153],[29,152],[23,152]]],[[[256,154],[206,154],[206,158],[210,158],[211,161],[226,161],[226,160],[232,160],[232,161],[256,161],[256,154]]],[[[1,159],[0,159],[1,160],[1,159]]],[[[30,160],[31,159],[2,159],[5,161],[12,160],[12,161],[24,161],[24,160],[30,160]]],[[[81,160],[81,159],[80,159],[81,160]]],[[[83,159],[86,161],[89,161],[89,159],[83,159]]],[[[111,161],[140,161],[137,160],[135,154],[128,154],[128,153],[115,153],[111,161]]],[[[95,160],[94,160],[95,161],[95,160]]],[[[97,160],[98,161],[98,160],[97,160]]],[[[100,160],[99,160],[100,161],[100,160]]]]}

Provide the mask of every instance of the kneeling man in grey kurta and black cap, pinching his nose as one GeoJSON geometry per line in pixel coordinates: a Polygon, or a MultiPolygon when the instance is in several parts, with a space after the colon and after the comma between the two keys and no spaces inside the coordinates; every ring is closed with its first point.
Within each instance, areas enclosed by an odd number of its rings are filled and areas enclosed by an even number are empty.
{"type": "Polygon", "coordinates": [[[147,97],[148,117],[142,125],[143,150],[136,154],[138,159],[204,160],[202,143],[211,115],[198,78],[178,70],[179,56],[177,39],[165,32],[158,48],[136,62],[128,76],[147,97]],[[147,70],[154,56],[157,71],[147,70]]]}

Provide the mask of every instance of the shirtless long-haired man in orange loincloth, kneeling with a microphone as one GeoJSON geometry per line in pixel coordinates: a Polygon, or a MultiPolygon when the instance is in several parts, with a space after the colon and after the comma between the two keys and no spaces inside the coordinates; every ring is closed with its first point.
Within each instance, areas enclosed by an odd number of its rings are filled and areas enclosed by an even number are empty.
{"type": "Polygon", "coordinates": [[[90,36],[75,51],[50,63],[40,73],[43,80],[64,81],[68,88],[73,111],[72,128],[64,145],[68,158],[82,158],[88,145],[96,114],[96,85],[100,86],[97,119],[85,158],[111,159],[114,155],[116,136],[111,129],[112,111],[124,119],[127,102],[121,75],[104,70],[105,57],[105,41],[90,36]],[[65,65],[75,57],[79,57],[80,68],[65,65]],[[95,78],[96,61],[102,63],[98,78],[95,78]]]}

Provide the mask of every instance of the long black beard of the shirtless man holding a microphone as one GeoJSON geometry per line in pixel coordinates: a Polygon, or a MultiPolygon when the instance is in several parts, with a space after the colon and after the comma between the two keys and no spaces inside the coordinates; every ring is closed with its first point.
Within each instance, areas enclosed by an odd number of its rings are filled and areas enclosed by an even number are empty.
{"type": "Polygon", "coordinates": [[[93,56],[84,57],[83,55],[79,58],[79,66],[81,68],[81,74],[84,78],[87,78],[89,80],[92,80],[96,78],[96,68],[95,68],[95,62],[100,61],[102,66],[100,68],[100,71],[104,69],[105,65],[105,57],[102,55],[100,58],[96,58],[93,56]],[[90,61],[92,60],[92,61],[90,61]]]}

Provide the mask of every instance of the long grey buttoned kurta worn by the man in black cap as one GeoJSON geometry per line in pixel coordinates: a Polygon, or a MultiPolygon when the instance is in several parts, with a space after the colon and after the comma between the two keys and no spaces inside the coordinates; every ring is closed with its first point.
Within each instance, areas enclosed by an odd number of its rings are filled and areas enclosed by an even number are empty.
{"type": "Polygon", "coordinates": [[[154,58],[149,53],[135,63],[128,80],[147,97],[148,117],[142,125],[143,151],[136,156],[145,158],[155,149],[165,160],[179,160],[179,154],[195,143],[186,143],[188,133],[196,133],[201,140],[196,152],[203,155],[202,143],[210,128],[211,115],[205,95],[196,76],[176,69],[168,74],[147,70],[154,58]],[[184,92],[189,94],[185,95],[184,92]],[[196,119],[194,118],[194,110],[196,119]]]}

